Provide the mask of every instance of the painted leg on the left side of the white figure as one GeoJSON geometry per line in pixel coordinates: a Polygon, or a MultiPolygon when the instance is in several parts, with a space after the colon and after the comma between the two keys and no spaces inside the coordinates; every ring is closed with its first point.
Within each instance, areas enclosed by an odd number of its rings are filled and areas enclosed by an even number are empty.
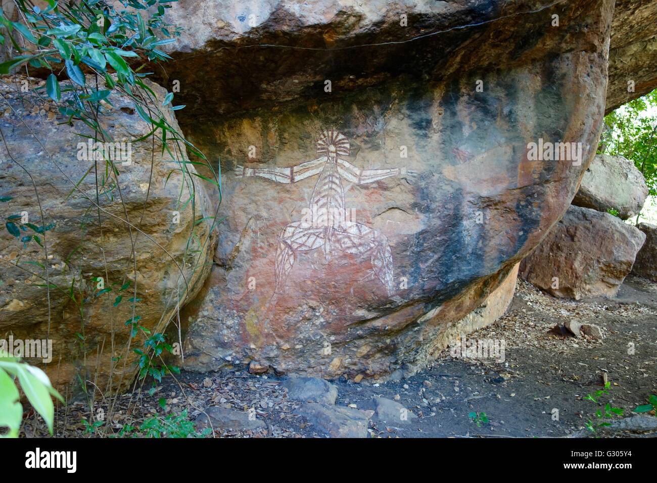
{"type": "Polygon", "coordinates": [[[283,229],[276,250],[275,293],[283,293],[296,252],[307,252],[323,246],[326,241],[325,231],[325,227],[313,227],[302,221],[294,221],[283,229]]]}

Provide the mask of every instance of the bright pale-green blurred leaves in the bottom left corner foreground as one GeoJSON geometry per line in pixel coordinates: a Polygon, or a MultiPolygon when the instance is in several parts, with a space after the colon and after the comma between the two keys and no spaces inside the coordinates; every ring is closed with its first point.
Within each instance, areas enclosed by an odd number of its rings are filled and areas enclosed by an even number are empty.
{"type": "Polygon", "coordinates": [[[18,357],[10,357],[0,350],[0,428],[9,428],[5,436],[17,438],[23,419],[23,408],[19,402],[20,395],[16,387],[16,378],[20,382],[26,398],[34,410],[43,417],[50,434],[53,434],[55,407],[51,396],[64,402],[62,396],[53,389],[48,376],[38,367],[20,362],[18,357]]]}

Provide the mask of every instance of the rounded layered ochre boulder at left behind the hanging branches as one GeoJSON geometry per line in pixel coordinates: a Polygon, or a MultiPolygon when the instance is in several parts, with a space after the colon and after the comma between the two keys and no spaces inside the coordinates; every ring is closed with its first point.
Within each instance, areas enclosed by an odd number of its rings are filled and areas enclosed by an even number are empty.
{"type": "MultiPolygon", "coordinates": [[[[132,143],[130,157],[116,160],[118,185],[114,177],[108,180],[105,161],[79,158],[87,140],[76,133],[89,134],[85,126],[68,125],[55,105],[22,95],[22,80],[5,77],[0,83],[9,103],[0,118],[6,141],[0,145],[0,196],[5,200],[0,210],[4,218],[17,216],[14,225],[20,230],[16,238],[3,225],[0,234],[0,338],[51,338],[52,361],[46,369],[59,388],[76,380],[78,371],[102,390],[110,378],[113,384],[122,378],[129,383],[137,357],[127,350],[125,326],[132,316],[134,270],[139,325],[162,333],[178,302],[193,297],[208,273],[214,237],[207,223],[194,221],[211,216],[210,200],[198,180],[183,176],[171,155],[162,154],[162,143],[151,139],[132,143]],[[95,206],[96,179],[100,209],[95,206]],[[22,241],[36,234],[26,223],[48,227],[37,235],[43,246],[22,241]]],[[[161,103],[164,89],[154,84],[152,89],[161,103]]],[[[114,108],[101,110],[100,121],[114,140],[130,141],[150,131],[131,101],[112,95],[110,102],[114,108]]],[[[177,126],[172,114],[166,116],[177,126]]],[[[180,155],[187,159],[184,147],[180,155]]],[[[143,349],[141,333],[131,348],[143,349]]]]}

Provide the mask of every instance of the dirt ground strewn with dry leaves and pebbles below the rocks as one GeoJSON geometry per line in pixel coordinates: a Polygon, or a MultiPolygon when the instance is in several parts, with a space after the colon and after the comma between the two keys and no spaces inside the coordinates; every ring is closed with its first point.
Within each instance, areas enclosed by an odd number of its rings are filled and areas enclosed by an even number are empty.
{"type": "MultiPolygon", "coordinates": [[[[560,437],[579,434],[607,402],[629,416],[650,394],[657,394],[657,284],[643,279],[629,277],[614,300],[581,301],[559,300],[518,281],[507,314],[469,338],[504,340],[504,360],[455,359],[445,351],[432,367],[409,379],[378,384],[335,380],[336,405],[359,407],[365,400],[383,396],[419,416],[403,426],[373,421],[372,437],[560,437]],[[598,325],[604,339],[576,338],[558,329],[572,319],[598,325]],[[601,404],[583,399],[602,389],[603,377],[610,388],[601,396],[601,404]],[[477,423],[472,413],[486,417],[477,423]]],[[[179,414],[183,409],[193,418],[209,405],[221,405],[240,411],[255,407],[267,428],[217,430],[216,436],[322,436],[295,414],[301,403],[286,397],[280,381],[244,370],[182,373],[176,380],[163,380],[152,395],[126,394],[118,401],[112,421],[87,435],[107,436],[126,423],[138,424],[154,414],[179,414]],[[166,398],[164,411],[158,404],[161,398],[166,398]]],[[[81,436],[85,429],[81,419],[89,416],[83,402],[61,407],[55,434],[81,436]]],[[[23,432],[45,435],[34,416],[26,419],[23,432]]]]}

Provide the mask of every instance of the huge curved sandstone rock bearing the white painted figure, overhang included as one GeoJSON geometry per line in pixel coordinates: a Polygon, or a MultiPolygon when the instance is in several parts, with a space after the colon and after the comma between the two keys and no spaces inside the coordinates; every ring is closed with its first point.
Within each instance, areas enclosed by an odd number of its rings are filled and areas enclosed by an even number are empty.
{"type": "Polygon", "coordinates": [[[570,204],[600,132],[611,3],[280,2],[258,28],[204,5],[189,35],[215,51],[170,74],[208,85],[181,93],[203,100],[181,122],[226,202],[185,367],[413,373],[570,204]],[[220,49],[246,40],[304,49],[220,49]],[[386,41],[403,42],[357,47],[386,41]]]}

